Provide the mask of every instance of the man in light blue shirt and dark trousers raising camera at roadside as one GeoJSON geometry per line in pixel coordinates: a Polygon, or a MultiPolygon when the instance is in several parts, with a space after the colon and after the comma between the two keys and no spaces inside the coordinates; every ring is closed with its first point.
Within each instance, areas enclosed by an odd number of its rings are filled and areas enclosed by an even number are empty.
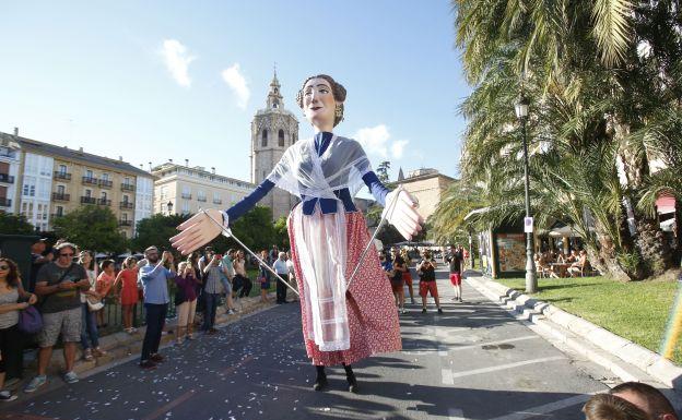
{"type": "Polygon", "coordinates": [[[158,345],[170,301],[167,280],[175,278],[175,272],[170,252],[164,251],[160,259],[158,249],[150,247],[144,250],[144,256],[149,264],[140,268],[140,280],[144,288],[146,331],[142,343],[140,368],[153,369],[157,362],[164,360],[158,353],[158,345]],[[166,263],[169,263],[170,268],[165,267],[166,263]]]}

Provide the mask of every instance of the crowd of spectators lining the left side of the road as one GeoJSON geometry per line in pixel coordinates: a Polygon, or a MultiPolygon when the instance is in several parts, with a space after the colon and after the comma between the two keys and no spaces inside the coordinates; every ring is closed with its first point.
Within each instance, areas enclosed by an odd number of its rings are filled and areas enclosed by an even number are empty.
{"type": "MultiPolygon", "coordinates": [[[[287,253],[278,251],[277,247],[260,254],[263,264],[257,265],[256,281],[261,300],[268,301],[271,281],[281,283],[270,269],[290,284],[295,284],[294,271],[287,253]]],[[[249,296],[254,286],[242,250],[228,250],[223,255],[207,247],[203,252],[177,262],[172,252],[150,247],[141,260],[129,256],[118,266],[115,260],[97,262],[93,252],[79,250],[63,239],[49,251],[46,241],[39,240],[32,247],[31,262],[24,283],[17,265],[10,259],[0,259],[0,401],[16,398],[5,388],[5,379],[16,382],[22,377],[27,339],[37,344],[37,374],[24,392],[33,393],[47,383],[52,348],[58,343],[63,347],[62,379],[67,383],[78,382],[73,368],[79,344],[86,361],[106,355],[99,346],[99,333],[110,322],[105,315],[105,303],[120,305],[120,327],[131,336],[138,334],[133,320],[136,307],[143,305],[146,327],[141,337],[139,364],[142,369],[154,369],[164,361],[158,347],[170,299],[177,316],[175,339],[181,345],[195,339],[197,322],[204,334],[216,334],[215,316],[221,301],[224,300],[227,314],[235,314],[235,301],[249,296]],[[22,311],[28,307],[34,307],[42,320],[42,328],[31,336],[22,333],[20,321],[22,311]]],[[[287,303],[285,285],[277,287],[277,303],[287,303]]]]}

